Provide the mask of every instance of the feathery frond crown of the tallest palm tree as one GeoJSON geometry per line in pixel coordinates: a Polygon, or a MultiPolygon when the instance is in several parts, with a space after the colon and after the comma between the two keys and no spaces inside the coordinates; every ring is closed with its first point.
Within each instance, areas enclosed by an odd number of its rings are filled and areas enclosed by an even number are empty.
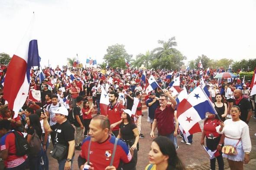
{"type": "Polygon", "coordinates": [[[165,53],[167,55],[170,55],[173,53],[174,46],[177,46],[177,42],[175,41],[175,37],[170,38],[168,41],[159,40],[158,44],[162,44],[162,47],[157,47],[154,50],[152,50],[152,53],[156,53],[155,56],[157,59],[162,57],[162,55],[165,53]]]}

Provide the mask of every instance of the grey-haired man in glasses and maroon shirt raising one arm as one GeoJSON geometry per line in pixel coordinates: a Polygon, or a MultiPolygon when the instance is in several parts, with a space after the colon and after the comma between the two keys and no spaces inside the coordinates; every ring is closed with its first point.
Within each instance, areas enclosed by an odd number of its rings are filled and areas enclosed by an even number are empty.
{"type": "MultiPolygon", "coordinates": [[[[159,104],[160,106],[156,108],[155,119],[152,123],[152,130],[150,132],[151,138],[155,138],[154,131],[157,127],[158,135],[166,136],[171,139],[173,144],[174,141],[174,110],[177,106],[175,98],[168,92],[168,90],[163,89],[164,94],[160,95],[159,104]],[[168,98],[172,104],[168,103],[168,98]]],[[[176,146],[175,146],[176,147],[176,146]]]]}

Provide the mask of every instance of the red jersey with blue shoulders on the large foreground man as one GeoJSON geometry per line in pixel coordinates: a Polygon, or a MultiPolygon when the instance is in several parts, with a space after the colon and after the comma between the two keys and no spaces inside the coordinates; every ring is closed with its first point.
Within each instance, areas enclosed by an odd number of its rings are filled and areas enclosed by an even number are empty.
{"type": "MultiPolygon", "coordinates": [[[[87,137],[83,141],[80,156],[87,160],[88,146],[91,138],[87,137]]],[[[107,141],[103,143],[91,142],[90,147],[90,161],[93,164],[94,170],[104,170],[110,165],[111,157],[113,155],[113,148],[115,144],[115,137],[109,136],[107,141]]],[[[127,145],[118,140],[117,149],[113,161],[113,166],[118,167],[120,160],[124,163],[130,162],[132,155],[127,145]]]]}

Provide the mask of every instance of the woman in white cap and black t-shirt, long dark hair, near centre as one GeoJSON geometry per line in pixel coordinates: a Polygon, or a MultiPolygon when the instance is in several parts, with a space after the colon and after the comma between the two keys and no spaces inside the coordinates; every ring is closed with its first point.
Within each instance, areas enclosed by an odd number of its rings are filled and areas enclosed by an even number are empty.
{"type": "Polygon", "coordinates": [[[123,166],[124,170],[136,170],[137,164],[137,151],[139,149],[139,131],[135,125],[133,119],[131,118],[132,112],[129,109],[122,109],[123,113],[121,115],[122,123],[120,124],[120,130],[117,138],[122,139],[126,143],[133,159],[130,163],[123,166]]]}

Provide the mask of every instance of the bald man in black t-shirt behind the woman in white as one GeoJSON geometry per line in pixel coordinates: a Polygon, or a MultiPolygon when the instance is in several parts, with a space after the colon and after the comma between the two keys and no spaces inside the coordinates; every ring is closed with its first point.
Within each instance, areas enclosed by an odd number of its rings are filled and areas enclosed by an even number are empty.
{"type": "Polygon", "coordinates": [[[234,100],[233,105],[240,107],[240,111],[241,111],[240,119],[248,124],[252,116],[252,107],[251,107],[250,101],[243,98],[243,93],[242,93],[242,90],[240,89],[236,89],[234,91],[234,97],[235,99],[233,99],[234,100]]]}

